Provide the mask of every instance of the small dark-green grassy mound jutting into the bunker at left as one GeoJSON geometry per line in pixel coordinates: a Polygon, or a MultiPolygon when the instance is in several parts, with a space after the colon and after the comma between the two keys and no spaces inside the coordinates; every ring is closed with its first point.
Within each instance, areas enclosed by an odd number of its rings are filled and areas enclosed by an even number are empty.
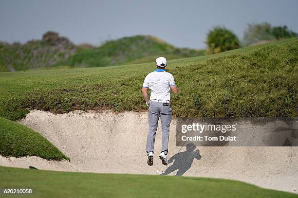
{"type": "Polygon", "coordinates": [[[67,159],[53,144],[34,130],[0,117],[0,155],[38,156],[47,160],[67,159]]]}

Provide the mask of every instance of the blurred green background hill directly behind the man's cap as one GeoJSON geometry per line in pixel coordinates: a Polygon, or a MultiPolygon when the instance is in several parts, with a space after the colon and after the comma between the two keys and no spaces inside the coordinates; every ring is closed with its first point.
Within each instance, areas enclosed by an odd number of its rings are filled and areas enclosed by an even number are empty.
{"type": "Polygon", "coordinates": [[[104,67],[125,64],[133,60],[139,60],[137,63],[152,62],[155,61],[155,56],[162,54],[171,54],[174,59],[199,56],[204,52],[204,50],[176,48],[156,37],[138,35],[107,41],[96,49],[80,50],[61,64],[74,67],[104,67]]]}

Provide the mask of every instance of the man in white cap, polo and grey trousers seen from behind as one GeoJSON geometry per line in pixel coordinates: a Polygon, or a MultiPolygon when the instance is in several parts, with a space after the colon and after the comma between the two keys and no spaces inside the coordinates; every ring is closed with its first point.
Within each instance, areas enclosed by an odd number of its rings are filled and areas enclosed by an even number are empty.
{"type": "Polygon", "coordinates": [[[172,120],[172,109],[170,106],[170,90],[178,93],[172,74],[165,71],[167,60],[165,57],[156,58],[157,69],[149,73],[144,81],[142,93],[149,107],[149,132],[147,136],[146,152],[148,156],[148,165],[153,165],[153,153],[155,134],[159,118],[162,124],[162,151],[158,156],[164,165],[168,165],[168,136],[169,126],[172,120]],[[151,90],[150,100],[147,90],[151,90]]]}

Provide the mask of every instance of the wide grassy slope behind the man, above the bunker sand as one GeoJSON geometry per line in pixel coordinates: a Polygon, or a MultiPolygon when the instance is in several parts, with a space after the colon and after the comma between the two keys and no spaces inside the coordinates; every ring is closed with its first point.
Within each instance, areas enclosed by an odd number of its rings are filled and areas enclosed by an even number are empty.
{"type": "MultiPolygon", "coordinates": [[[[0,117],[29,109],[146,109],[141,94],[155,63],[103,68],[1,72],[0,117]]],[[[174,116],[297,117],[298,38],[220,54],[168,61],[180,89],[174,116]]]]}

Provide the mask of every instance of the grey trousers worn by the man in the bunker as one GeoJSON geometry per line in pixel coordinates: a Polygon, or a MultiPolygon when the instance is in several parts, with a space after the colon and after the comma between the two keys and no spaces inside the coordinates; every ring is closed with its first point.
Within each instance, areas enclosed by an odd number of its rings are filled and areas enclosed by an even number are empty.
{"type": "Polygon", "coordinates": [[[162,102],[150,102],[149,107],[149,132],[147,136],[146,152],[154,152],[154,142],[157,130],[158,119],[162,123],[162,151],[168,154],[169,126],[172,120],[172,109],[170,106],[163,106],[162,102]]]}

